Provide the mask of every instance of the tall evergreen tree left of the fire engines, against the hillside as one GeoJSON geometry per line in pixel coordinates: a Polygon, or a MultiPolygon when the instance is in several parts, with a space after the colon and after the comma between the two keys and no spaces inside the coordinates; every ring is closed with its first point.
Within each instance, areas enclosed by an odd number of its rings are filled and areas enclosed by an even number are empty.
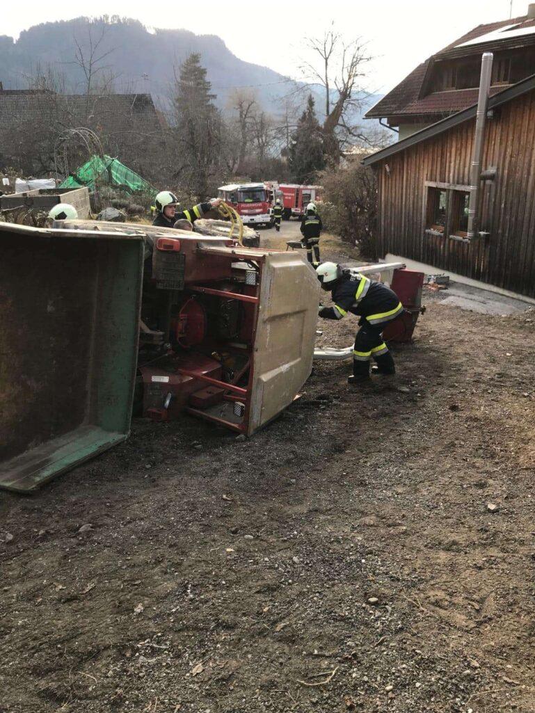
{"type": "Polygon", "coordinates": [[[175,77],[176,174],[185,189],[201,200],[207,197],[210,177],[220,165],[221,116],[214,98],[200,54],[190,54],[175,77]]]}

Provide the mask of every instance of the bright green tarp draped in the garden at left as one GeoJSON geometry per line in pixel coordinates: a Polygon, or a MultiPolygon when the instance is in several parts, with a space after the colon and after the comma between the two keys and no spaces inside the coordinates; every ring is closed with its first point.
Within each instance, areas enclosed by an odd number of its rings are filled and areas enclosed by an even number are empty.
{"type": "Polygon", "coordinates": [[[137,191],[154,192],[153,187],[146,180],[134,173],[130,168],[126,168],[116,158],[111,156],[93,155],[83,166],[71,173],[59,186],[59,188],[81,188],[87,186],[89,190],[95,190],[95,183],[98,185],[111,185],[117,188],[124,188],[129,193],[137,191]]]}

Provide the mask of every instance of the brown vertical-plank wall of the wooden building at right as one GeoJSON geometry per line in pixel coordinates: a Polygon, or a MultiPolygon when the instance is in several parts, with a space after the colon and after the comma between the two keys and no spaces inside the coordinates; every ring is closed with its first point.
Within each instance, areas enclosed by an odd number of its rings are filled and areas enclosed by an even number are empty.
{"type": "Polygon", "coordinates": [[[496,174],[481,182],[479,201],[479,231],[487,235],[465,242],[452,215],[469,190],[471,117],[429,138],[424,130],[417,143],[365,161],[377,170],[379,252],[535,297],[535,89],[492,113],[482,168],[496,174]],[[439,209],[430,202],[437,200],[444,225],[434,226],[439,209]]]}

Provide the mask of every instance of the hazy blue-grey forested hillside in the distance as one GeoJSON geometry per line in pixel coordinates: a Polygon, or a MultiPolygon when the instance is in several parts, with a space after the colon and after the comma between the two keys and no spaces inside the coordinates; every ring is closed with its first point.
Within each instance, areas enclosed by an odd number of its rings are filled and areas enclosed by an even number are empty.
{"type": "MultiPolygon", "coordinates": [[[[26,88],[27,77],[34,75],[37,66],[47,66],[64,73],[66,91],[82,92],[84,76],[74,63],[76,41],[88,56],[88,26],[86,18],[47,22],[21,33],[18,41],[0,36],[0,81],[4,89],[26,88]]],[[[148,31],[140,22],[131,19],[92,21],[93,41],[103,40],[96,56],[108,53],[100,66],[116,76],[115,91],[151,93],[163,108],[167,103],[169,86],[173,81],[173,66],[191,52],[202,56],[208,69],[218,106],[225,108],[228,95],[237,86],[254,86],[263,106],[273,113],[280,111],[276,100],[285,96],[295,84],[287,77],[267,67],[245,62],[236,57],[215,35],[195,35],[187,30],[156,29],[148,31]]],[[[321,100],[322,88],[315,88],[321,100]]],[[[370,96],[364,111],[379,100],[370,96]]],[[[317,102],[321,114],[322,102],[317,102]]]]}

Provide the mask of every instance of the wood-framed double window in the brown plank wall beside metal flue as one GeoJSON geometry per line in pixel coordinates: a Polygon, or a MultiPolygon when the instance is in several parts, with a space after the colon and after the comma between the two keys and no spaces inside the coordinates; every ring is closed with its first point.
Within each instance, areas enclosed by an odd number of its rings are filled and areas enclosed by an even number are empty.
{"type": "Polygon", "coordinates": [[[470,192],[468,186],[426,183],[427,235],[467,237],[470,192]]]}

